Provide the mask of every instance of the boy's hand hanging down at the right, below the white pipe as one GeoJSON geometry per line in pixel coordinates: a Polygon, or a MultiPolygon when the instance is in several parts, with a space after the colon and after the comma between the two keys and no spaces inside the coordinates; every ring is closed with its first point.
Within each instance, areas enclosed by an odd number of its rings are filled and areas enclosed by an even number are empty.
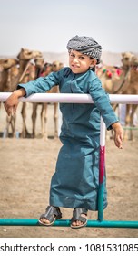
{"type": "Polygon", "coordinates": [[[122,125],[117,122],[112,124],[113,131],[114,131],[114,144],[122,149],[123,148],[123,127],[122,125]]]}

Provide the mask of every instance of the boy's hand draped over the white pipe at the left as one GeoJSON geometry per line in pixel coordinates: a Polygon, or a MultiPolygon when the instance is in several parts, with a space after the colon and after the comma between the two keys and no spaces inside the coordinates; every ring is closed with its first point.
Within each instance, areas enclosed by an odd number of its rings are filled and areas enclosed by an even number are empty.
{"type": "Polygon", "coordinates": [[[19,89],[14,91],[5,101],[5,111],[7,114],[13,115],[16,112],[17,105],[19,103],[18,99],[25,96],[25,89],[19,89]]]}

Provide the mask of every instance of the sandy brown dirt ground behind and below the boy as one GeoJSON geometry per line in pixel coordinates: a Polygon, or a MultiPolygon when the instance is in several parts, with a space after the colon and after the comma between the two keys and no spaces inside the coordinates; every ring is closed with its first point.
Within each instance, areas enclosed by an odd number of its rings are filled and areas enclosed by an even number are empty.
{"type": "MultiPolygon", "coordinates": [[[[20,107],[19,107],[20,109],[20,107]]],[[[31,133],[31,110],[28,103],[27,127],[31,133]]],[[[49,105],[48,133],[45,141],[39,136],[40,120],[37,118],[37,138],[3,138],[5,110],[0,111],[0,216],[3,219],[38,219],[48,205],[49,186],[54,174],[57,154],[61,146],[53,138],[53,105],[49,105]]],[[[22,120],[17,112],[17,129],[22,120]]],[[[108,207],[106,220],[138,220],[138,131],[134,140],[117,149],[113,140],[106,141],[106,174],[108,207]]],[[[63,219],[72,217],[72,209],[61,208],[63,219]]],[[[97,213],[89,211],[89,219],[97,213]]],[[[69,227],[13,227],[0,226],[1,238],[137,238],[138,229],[69,227]]]]}

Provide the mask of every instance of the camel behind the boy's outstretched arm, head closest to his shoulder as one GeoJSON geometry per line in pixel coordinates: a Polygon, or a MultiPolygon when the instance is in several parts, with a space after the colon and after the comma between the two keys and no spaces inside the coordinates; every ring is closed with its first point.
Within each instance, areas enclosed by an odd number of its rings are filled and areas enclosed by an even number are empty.
{"type": "MultiPolygon", "coordinates": [[[[35,65],[36,65],[36,74],[39,73],[40,76],[46,76],[50,72],[56,72],[60,69],[62,69],[63,63],[60,63],[59,61],[54,61],[52,65],[49,63],[46,63],[44,66],[44,69],[42,69],[42,62],[40,62],[40,59],[35,60],[35,65]],[[39,69],[39,71],[38,71],[39,69]],[[41,74],[40,74],[40,69],[41,69],[41,74]]],[[[38,77],[38,76],[36,76],[38,77]]],[[[47,93],[58,93],[59,88],[58,86],[54,86],[50,91],[46,91],[47,93]]],[[[42,110],[41,110],[41,134],[44,137],[44,139],[48,138],[48,133],[47,133],[47,117],[48,117],[48,103],[34,103],[34,110],[32,114],[32,121],[33,121],[33,138],[35,137],[35,123],[36,123],[36,112],[37,112],[37,106],[38,104],[42,105],[42,110]]],[[[54,103],[54,137],[57,137],[58,135],[58,103],[54,103]]]]}

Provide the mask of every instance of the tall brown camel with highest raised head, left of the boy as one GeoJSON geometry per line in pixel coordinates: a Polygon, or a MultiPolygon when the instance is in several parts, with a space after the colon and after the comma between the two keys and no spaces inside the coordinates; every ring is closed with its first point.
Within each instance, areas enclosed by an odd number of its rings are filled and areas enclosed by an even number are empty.
{"type": "MultiPolygon", "coordinates": [[[[6,78],[8,79],[6,79],[7,82],[4,84],[5,91],[7,91],[7,89],[8,91],[15,91],[17,84],[25,83],[29,80],[34,80],[35,70],[34,70],[34,65],[30,63],[30,60],[36,57],[42,57],[42,53],[40,51],[21,48],[19,54],[17,55],[17,60],[16,60],[19,64],[19,67],[14,65],[16,64],[16,62],[14,62],[13,66],[11,66],[11,69],[8,71],[8,74],[6,76],[6,78]]],[[[11,59],[7,59],[8,62],[10,60],[11,59]]],[[[26,119],[26,103],[25,102],[23,103],[21,114],[23,118],[23,130],[21,133],[21,137],[25,138],[29,134],[25,124],[25,119],[26,119]]],[[[7,117],[7,124],[6,124],[7,135],[8,135],[10,124],[12,126],[12,136],[15,137],[15,114],[11,117],[7,117]]]]}

